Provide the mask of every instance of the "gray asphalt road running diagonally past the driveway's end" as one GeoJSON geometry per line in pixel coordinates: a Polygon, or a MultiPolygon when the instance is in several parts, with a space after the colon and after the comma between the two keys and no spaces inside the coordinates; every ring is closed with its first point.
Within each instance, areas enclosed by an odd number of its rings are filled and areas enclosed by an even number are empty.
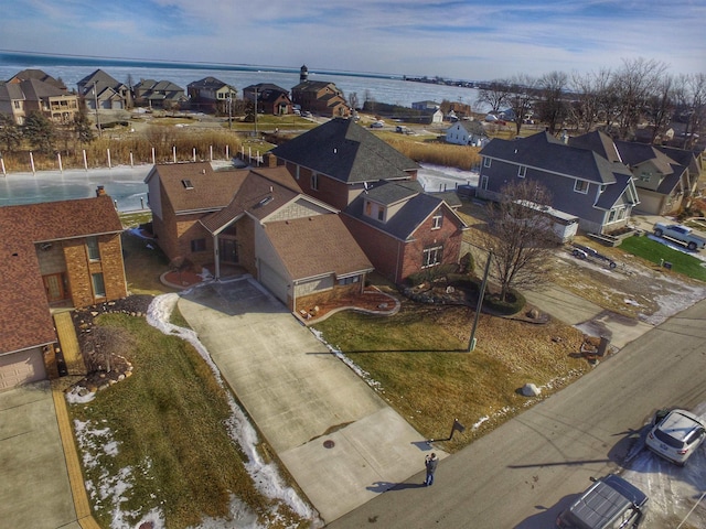
{"type": "MultiPolygon", "coordinates": [[[[470,382],[472,384],[472,381],[470,382]]],[[[706,301],[635,339],[595,371],[328,527],[554,527],[590,485],[620,472],[655,410],[706,401],[706,301]]]]}

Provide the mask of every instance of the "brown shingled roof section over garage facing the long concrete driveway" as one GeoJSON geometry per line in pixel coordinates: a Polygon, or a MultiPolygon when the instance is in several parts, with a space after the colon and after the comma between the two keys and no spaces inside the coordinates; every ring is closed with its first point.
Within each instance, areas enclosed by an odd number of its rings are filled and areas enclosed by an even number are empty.
{"type": "Polygon", "coordinates": [[[374,269],[339,215],[268,223],[265,233],[295,281],[374,269]]]}

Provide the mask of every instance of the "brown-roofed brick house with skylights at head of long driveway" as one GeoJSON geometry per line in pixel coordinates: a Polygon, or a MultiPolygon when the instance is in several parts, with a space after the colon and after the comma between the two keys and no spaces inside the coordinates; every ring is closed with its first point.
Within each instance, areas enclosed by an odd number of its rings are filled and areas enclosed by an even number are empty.
{"type": "Polygon", "coordinates": [[[215,279],[244,269],[292,311],[361,291],[373,270],[336,209],[304,195],[284,166],[156,165],[146,182],[157,242],[170,259],[208,267],[215,279]]]}

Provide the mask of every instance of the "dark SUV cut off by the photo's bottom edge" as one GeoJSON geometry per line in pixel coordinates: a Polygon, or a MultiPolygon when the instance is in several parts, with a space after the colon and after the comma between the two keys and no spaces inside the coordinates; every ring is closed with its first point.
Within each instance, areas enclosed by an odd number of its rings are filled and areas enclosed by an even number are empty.
{"type": "Polygon", "coordinates": [[[616,474],[598,479],[556,519],[560,529],[631,529],[644,519],[648,496],[616,474]]]}

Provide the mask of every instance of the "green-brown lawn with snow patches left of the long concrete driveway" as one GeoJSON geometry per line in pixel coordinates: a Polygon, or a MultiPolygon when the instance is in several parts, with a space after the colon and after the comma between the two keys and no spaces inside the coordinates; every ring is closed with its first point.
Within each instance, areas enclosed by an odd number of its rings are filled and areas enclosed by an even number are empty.
{"type": "MultiPolygon", "coordinates": [[[[227,519],[237,498],[266,527],[304,527],[291,509],[258,490],[231,436],[226,391],[186,342],[143,319],[103,315],[130,344],[133,375],[72,404],[86,485],[101,527],[137,527],[159,512],[180,529],[204,517],[227,519]]],[[[308,522],[307,522],[308,523],[308,522]]]]}

